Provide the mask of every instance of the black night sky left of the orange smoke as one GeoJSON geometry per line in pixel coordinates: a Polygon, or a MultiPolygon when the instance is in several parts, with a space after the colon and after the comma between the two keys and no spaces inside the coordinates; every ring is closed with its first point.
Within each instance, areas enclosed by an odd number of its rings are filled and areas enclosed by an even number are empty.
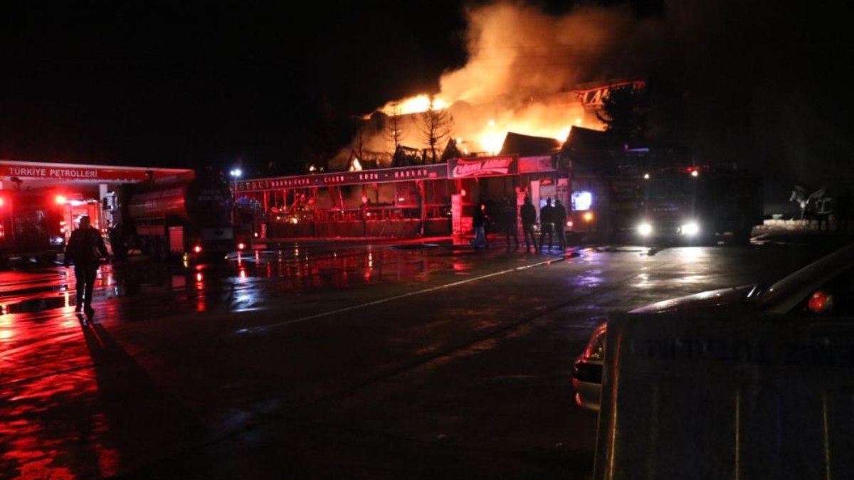
{"type": "Polygon", "coordinates": [[[463,61],[458,5],[401,4],[3,7],[0,158],[288,163],[323,108],[370,112],[463,61]]]}

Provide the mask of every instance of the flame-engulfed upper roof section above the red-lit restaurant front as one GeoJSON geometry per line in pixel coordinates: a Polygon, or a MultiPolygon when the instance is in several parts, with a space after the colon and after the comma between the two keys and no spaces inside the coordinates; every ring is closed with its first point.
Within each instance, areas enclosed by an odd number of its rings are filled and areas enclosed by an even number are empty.
{"type": "Polygon", "coordinates": [[[397,167],[500,152],[523,155],[507,144],[509,133],[563,143],[572,126],[602,130],[596,111],[603,97],[609,89],[626,85],[642,88],[644,83],[606,80],[548,96],[482,103],[447,104],[438,97],[431,102],[427,95],[389,102],[362,118],[353,143],[330,161],[330,169],[397,167]]]}

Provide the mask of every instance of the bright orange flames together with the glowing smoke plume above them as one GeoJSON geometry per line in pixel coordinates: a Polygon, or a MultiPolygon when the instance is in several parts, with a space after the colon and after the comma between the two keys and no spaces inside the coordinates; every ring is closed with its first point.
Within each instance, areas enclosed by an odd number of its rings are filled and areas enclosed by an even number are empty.
{"type": "MultiPolygon", "coordinates": [[[[467,14],[469,61],[442,75],[433,103],[453,116],[453,137],[464,153],[497,152],[507,132],[563,142],[572,126],[602,127],[574,90],[584,82],[632,74],[631,52],[617,48],[642,30],[628,10],[588,8],[554,17],[500,2],[467,14]]],[[[429,107],[424,93],[378,110],[396,116],[403,144],[424,148],[418,114],[429,107]]],[[[388,152],[394,149],[389,142],[377,132],[366,147],[388,152]]]]}

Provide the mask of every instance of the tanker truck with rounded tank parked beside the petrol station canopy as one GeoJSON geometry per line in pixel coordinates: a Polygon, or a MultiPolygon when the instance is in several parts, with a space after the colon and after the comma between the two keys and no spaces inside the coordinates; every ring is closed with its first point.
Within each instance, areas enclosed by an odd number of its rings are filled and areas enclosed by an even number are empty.
{"type": "Polygon", "coordinates": [[[110,242],[118,259],[138,249],[155,260],[187,255],[190,260],[223,259],[235,249],[231,190],[225,179],[122,184],[110,242]]]}

